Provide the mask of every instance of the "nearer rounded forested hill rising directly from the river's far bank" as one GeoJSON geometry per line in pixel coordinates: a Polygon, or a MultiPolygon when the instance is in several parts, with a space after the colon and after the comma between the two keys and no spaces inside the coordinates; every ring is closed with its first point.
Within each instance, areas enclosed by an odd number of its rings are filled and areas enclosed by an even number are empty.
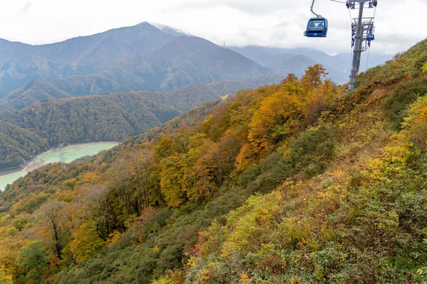
{"type": "Polygon", "coordinates": [[[122,141],[181,113],[156,94],[95,95],[38,102],[20,111],[0,112],[4,151],[0,171],[22,168],[31,158],[60,144],[122,141]],[[11,136],[13,126],[19,133],[11,136]],[[25,142],[28,139],[33,143],[25,142]],[[43,145],[43,146],[41,146],[43,145]]]}

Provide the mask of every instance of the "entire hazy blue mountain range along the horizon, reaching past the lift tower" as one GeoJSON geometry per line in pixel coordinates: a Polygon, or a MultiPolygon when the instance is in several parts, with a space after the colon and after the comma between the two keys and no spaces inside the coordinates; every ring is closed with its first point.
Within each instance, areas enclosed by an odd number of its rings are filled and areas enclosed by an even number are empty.
{"type": "MultiPolygon", "coordinates": [[[[330,78],[343,83],[348,80],[350,63],[349,54],[331,56],[309,48],[222,48],[147,22],[48,45],[0,39],[0,50],[0,111],[51,99],[130,91],[172,92],[211,82],[259,87],[254,82],[280,82],[288,73],[300,77],[315,63],[325,65],[330,78]],[[260,77],[263,79],[258,80],[260,77]]],[[[389,58],[372,54],[369,66],[389,58]]],[[[197,94],[192,93],[196,99],[197,94]]]]}

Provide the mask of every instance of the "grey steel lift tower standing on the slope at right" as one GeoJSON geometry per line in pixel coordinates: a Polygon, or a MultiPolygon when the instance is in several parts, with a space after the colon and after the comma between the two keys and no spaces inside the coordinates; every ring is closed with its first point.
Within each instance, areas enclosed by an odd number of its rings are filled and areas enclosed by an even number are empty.
{"type": "Polygon", "coordinates": [[[375,39],[374,17],[364,18],[363,12],[365,8],[376,8],[377,0],[347,0],[346,6],[348,9],[356,9],[356,4],[359,4],[359,17],[352,19],[353,59],[348,91],[352,91],[356,87],[356,76],[359,74],[362,52],[367,50],[371,46],[371,40],[375,39]]]}

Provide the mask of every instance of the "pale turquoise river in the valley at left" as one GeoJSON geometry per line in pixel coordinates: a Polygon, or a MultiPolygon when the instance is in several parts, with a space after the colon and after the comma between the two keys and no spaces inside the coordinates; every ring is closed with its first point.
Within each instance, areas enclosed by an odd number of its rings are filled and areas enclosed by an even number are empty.
{"type": "Polygon", "coordinates": [[[70,163],[73,160],[82,158],[85,155],[96,155],[100,151],[104,151],[110,148],[113,148],[118,143],[115,142],[101,142],[101,143],[88,143],[88,144],[78,144],[73,146],[68,146],[63,149],[52,149],[41,155],[38,155],[34,160],[32,160],[26,168],[14,173],[9,173],[7,175],[0,175],[0,191],[4,190],[6,185],[11,184],[14,180],[17,180],[28,173],[28,170],[34,170],[35,168],[41,167],[48,163],[56,163],[60,160],[60,152],[63,152],[66,163],[70,163]]]}

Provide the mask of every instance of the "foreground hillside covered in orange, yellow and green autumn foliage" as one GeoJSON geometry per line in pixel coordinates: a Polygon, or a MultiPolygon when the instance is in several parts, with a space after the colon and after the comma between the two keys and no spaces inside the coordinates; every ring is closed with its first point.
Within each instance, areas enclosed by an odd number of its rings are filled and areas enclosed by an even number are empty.
{"type": "Polygon", "coordinates": [[[344,88],[314,65],[34,170],[0,194],[0,280],[423,283],[427,40],[344,88]]]}

